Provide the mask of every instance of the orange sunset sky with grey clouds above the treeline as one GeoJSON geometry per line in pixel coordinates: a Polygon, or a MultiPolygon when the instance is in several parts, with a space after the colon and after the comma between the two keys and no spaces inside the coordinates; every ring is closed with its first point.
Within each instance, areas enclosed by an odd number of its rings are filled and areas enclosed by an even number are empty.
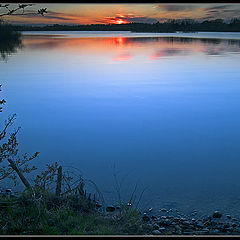
{"type": "MultiPolygon", "coordinates": [[[[17,6],[10,4],[9,9],[17,6]]],[[[1,8],[0,12],[4,10],[1,8]]],[[[25,13],[28,15],[4,16],[4,19],[14,24],[155,23],[173,18],[229,20],[240,17],[240,4],[34,4],[25,13]],[[44,17],[33,14],[40,8],[47,8],[44,17]]]]}

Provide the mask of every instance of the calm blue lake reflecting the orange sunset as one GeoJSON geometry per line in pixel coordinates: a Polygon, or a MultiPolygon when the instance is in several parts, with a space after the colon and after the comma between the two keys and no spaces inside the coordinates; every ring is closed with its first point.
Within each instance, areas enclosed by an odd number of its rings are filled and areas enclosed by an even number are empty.
{"type": "Polygon", "coordinates": [[[240,34],[24,32],[0,61],[21,152],[143,210],[240,214],[240,34]],[[115,177],[114,177],[115,175],[115,177]]]}

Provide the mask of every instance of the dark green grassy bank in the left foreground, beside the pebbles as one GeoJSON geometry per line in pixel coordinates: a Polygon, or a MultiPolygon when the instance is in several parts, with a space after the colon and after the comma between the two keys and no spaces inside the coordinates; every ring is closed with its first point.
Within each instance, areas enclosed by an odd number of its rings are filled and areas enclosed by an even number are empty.
{"type": "Polygon", "coordinates": [[[122,235],[143,234],[140,212],[122,205],[104,211],[79,194],[57,197],[37,189],[20,196],[1,196],[0,234],[122,235]]]}

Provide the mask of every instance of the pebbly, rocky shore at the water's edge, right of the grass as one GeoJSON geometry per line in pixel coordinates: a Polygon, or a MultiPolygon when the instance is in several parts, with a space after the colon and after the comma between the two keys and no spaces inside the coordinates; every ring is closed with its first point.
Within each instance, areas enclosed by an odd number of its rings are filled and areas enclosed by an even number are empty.
{"type": "Polygon", "coordinates": [[[159,216],[143,213],[142,222],[147,235],[240,235],[240,221],[231,215],[214,211],[206,217],[196,217],[197,210],[190,216],[177,209],[161,209],[159,216]]]}

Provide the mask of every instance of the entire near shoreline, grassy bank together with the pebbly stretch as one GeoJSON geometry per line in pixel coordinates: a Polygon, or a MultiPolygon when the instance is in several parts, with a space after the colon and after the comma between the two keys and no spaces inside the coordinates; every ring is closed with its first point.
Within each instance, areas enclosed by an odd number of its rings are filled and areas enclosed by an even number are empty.
{"type": "Polygon", "coordinates": [[[206,217],[161,209],[141,214],[131,205],[104,208],[79,193],[56,196],[37,188],[0,197],[1,235],[239,235],[239,219],[215,211],[206,217]]]}

